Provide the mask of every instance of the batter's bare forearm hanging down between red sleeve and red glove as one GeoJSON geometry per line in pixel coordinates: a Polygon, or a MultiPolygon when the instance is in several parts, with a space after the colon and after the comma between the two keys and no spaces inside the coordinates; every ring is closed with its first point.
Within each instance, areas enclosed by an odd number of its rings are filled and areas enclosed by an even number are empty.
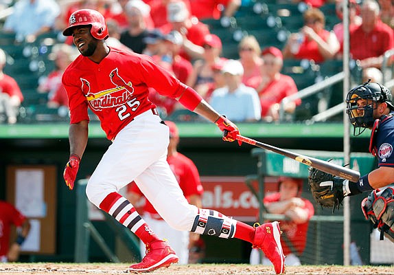
{"type": "Polygon", "coordinates": [[[82,158],[88,142],[88,121],[73,123],[69,128],[70,155],[76,154],[82,158]]]}

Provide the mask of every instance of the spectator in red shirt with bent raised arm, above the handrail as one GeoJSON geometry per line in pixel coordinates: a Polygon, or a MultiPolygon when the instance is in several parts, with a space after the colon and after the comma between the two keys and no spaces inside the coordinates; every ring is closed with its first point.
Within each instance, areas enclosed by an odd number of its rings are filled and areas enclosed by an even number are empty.
{"type": "Polygon", "coordinates": [[[290,34],[283,49],[283,58],[309,59],[317,63],[334,58],[340,48],[333,32],[325,30],[325,17],[321,10],[312,8],[303,14],[304,26],[290,34]]]}

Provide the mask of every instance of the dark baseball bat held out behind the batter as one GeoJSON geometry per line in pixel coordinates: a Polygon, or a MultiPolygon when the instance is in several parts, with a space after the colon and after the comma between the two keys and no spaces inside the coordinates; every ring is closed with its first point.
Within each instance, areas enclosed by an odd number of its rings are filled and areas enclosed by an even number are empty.
{"type": "Polygon", "coordinates": [[[314,157],[307,157],[305,155],[299,155],[297,153],[284,150],[270,144],[265,144],[263,142],[258,142],[257,140],[252,140],[249,137],[244,137],[242,135],[237,135],[237,140],[240,142],[245,142],[247,144],[251,144],[260,148],[267,149],[269,151],[273,151],[274,153],[278,153],[280,155],[284,155],[285,157],[290,157],[291,159],[297,160],[297,162],[301,162],[302,164],[311,166],[318,170],[321,170],[325,173],[329,173],[335,175],[337,177],[342,177],[343,179],[349,179],[349,181],[358,181],[360,179],[360,173],[356,170],[351,170],[349,168],[339,166],[337,164],[333,164],[331,162],[326,162],[321,159],[315,159],[314,157]]]}

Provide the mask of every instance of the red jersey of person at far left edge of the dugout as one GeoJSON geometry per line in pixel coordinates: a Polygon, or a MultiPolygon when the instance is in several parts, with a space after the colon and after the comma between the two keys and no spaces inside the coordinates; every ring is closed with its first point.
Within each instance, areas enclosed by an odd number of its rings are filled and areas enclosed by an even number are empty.
{"type": "Polygon", "coordinates": [[[5,256],[8,253],[11,225],[19,227],[25,219],[26,217],[12,204],[0,201],[0,256],[5,256]]]}

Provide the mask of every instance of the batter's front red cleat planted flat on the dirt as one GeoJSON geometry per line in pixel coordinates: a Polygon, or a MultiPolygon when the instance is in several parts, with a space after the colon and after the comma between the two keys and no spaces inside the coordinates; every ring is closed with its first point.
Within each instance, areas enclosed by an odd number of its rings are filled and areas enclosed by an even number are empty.
{"type": "Polygon", "coordinates": [[[146,255],[141,263],[130,265],[129,272],[151,272],[161,267],[178,263],[178,256],[166,241],[152,241],[146,244],[146,255]]]}

